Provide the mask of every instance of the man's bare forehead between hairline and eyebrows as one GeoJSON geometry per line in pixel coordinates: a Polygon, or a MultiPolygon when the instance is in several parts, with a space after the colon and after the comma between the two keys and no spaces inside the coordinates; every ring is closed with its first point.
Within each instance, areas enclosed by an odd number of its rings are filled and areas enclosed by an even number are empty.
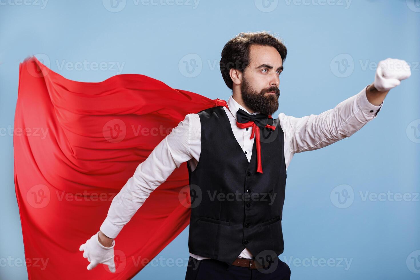
{"type": "Polygon", "coordinates": [[[281,55],[276,48],[271,46],[251,45],[249,51],[249,63],[252,66],[262,64],[272,65],[277,68],[283,65],[281,55]]]}

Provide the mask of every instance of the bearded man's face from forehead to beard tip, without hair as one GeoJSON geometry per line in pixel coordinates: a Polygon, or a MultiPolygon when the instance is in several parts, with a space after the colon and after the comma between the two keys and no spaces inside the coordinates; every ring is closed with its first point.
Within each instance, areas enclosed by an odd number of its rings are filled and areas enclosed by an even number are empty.
{"type": "Polygon", "coordinates": [[[248,108],[266,115],[277,111],[281,71],[281,55],[274,47],[251,45],[241,84],[242,100],[248,108]]]}

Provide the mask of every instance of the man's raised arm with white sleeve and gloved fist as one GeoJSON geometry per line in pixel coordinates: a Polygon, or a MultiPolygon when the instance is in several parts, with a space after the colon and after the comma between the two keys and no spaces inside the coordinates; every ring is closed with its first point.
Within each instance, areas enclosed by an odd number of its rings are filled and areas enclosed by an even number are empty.
{"type": "Polygon", "coordinates": [[[387,59],[378,64],[373,84],[319,115],[295,118],[281,113],[285,134],[286,167],[294,153],[320,149],[350,137],[376,118],[389,90],[407,79],[411,72],[404,60],[387,59]]]}

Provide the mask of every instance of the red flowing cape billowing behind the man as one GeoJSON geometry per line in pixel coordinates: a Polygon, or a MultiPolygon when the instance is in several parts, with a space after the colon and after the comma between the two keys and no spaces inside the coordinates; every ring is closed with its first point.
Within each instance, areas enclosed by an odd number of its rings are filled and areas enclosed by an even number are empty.
{"type": "Polygon", "coordinates": [[[14,181],[29,279],[130,279],[189,224],[186,162],[153,191],[115,244],[116,273],[86,269],[79,246],[113,197],[185,115],[226,103],[138,74],[71,81],[37,58],[19,66],[14,181]]]}

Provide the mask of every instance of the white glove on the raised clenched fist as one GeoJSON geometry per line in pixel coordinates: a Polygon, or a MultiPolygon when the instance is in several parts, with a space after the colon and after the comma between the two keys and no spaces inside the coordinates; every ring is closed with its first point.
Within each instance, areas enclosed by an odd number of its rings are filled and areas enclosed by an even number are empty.
{"type": "Polygon", "coordinates": [[[387,92],[401,84],[401,81],[409,76],[411,76],[411,71],[407,62],[400,59],[387,58],[378,63],[374,86],[380,92],[387,92]]]}

